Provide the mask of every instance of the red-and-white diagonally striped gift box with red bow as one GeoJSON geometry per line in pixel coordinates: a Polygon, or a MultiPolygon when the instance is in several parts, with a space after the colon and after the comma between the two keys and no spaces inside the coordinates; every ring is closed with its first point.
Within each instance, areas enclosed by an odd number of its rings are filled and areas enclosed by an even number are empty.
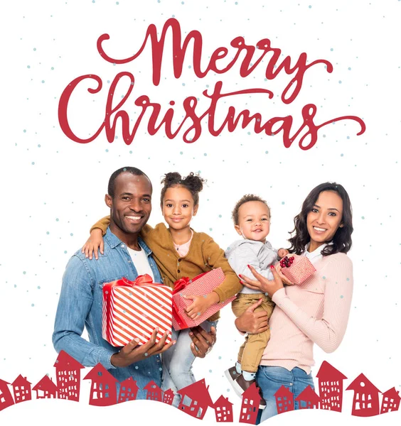
{"type": "Polygon", "coordinates": [[[103,286],[102,337],[109,344],[125,346],[135,337],[144,344],[156,327],[156,342],[165,331],[166,344],[171,342],[171,288],[153,283],[148,274],[103,286]]]}

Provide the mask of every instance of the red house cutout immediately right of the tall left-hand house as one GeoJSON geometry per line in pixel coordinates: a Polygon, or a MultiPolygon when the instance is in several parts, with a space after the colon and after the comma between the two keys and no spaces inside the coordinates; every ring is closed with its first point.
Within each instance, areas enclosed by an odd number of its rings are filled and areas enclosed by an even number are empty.
{"type": "Polygon", "coordinates": [[[117,404],[117,378],[112,376],[102,364],[96,364],[84,377],[91,380],[89,405],[105,407],[117,404]]]}

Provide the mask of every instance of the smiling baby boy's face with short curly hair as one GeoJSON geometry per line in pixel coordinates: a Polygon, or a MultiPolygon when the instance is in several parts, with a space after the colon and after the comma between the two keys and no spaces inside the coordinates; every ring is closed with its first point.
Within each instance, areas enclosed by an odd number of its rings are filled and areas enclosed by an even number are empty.
{"type": "Polygon", "coordinates": [[[270,231],[270,212],[264,202],[248,201],[238,209],[238,234],[246,239],[264,243],[270,231]]]}

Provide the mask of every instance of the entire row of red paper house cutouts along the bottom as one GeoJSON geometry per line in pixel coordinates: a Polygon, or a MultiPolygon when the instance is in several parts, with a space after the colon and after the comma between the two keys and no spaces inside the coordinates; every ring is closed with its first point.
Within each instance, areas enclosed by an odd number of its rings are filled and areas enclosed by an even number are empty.
{"type": "MultiPolygon", "coordinates": [[[[21,374],[13,383],[0,379],[0,411],[11,405],[22,403],[32,399],[32,391],[36,391],[36,399],[60,398],[78,401],[80,398],[80,369],[85,368],[73,359],[65,351],[60,351],[54,364],[57,383],[53,383],[49,376],[43,376],[41,380],[31,388],[31,383],[21,374]],[[10,386],[14,393],[11,395],[10,386]]],[[[319,378],[319,395],[307,386],[295,400],[299,401],[300,409],[320,408],[321,410],[333,410],[341,412],[343,405],[343,381],[346,376],[336,368],[323,361],[316,377],[319,378]]],[[[119,383],[102,364],[97,364],[83,380],[92,381],[90,388],[90,405],[114,405],[124,403],[137,398],[139,387],[132,377],[119,383]],[[119,394],[117,395],[117,383],[119,383],[119,394]]],[[[178,393],[181,395],[181,403],[178,410],[193,417],[203,419],[206,410],[215,410],[216,422],[232,422],[232,403],[220,395],[213,403],[206,387],[205,379],[186,386],[178,393]]],[[[161,388],[150,381],[145,387],[146,400],[155,400],[171,405],[174,393],[171,389],[161,391],[161,388]]],[[[397,411],[400,406],[401,397],[399,391],[390,388],[383,393],[381,407],[379,394],[381,393],[366,376],[360,374],[346,388],[346,391],[354,391],[352,415],[369,417],[397,411]]],[[[285,413],[294,410],[294,395],[289,388],[281,386],[274,394],[277,405],[277,413],[285,413]]],[[[260,403],[257,388],[252,385],[242,394],[242,405],[239,422],[255,424],[260,403]]]]}

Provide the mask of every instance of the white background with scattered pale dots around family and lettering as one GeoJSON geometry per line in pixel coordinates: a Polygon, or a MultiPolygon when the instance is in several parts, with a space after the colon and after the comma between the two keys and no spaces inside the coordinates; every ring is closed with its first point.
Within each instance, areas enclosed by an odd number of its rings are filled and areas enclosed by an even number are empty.
{"type": "MultiPolygon", "coordinates": [[[[154,183],[150,224],[162,220],[158,207],[162,175],[200,172],[208,185],[192,226],[213,236],[223,248],[237,238],[230,212],[245,193],[268,200],[272,209],[269,240],[280,247],[286,246],[292,218],[309,190],[327,180],[344,185],[354,212],[349,253],[354,266],[353,303],[343,343],[333,354],[316,348],[313,373],[326,360],[348,377],[345,387],[364,373],[382,392],[392,386],[400,390],[400,7],[397,0],[23,0],[2,6],[0,378],[12,382],[22,373],[33,385],[46,373],[55,378],[51,334],[65,264],[87,239],[90,226],[107,214],[103,200],[109,175],[134,165],[154,183]],[[139,49],[149,24],[156,24],[160,32],[171,16],[181,23],[183,36],[193,29],[201,31],[203,64],[216,48],[230,48],[230,41],[242,35],[250,45],[269,38],[274,48],[282,50],[281,59],[290,55],[292,64],[306,52],[309,61],[329,60],[334,70],[328,74],[323,65],[316,65],[306,71],[299,96],[284,105],[279,96],[292,77],[280,72],[277,79],[265,81],[268,59],[246,78],[240,77],[238,63],[224,75],[209,73],[198,79],[188,67],[190,50],[183,75],[175,79],[168,41],[161,84],[154,87],[149,45],[137,60],[125,65],[105,62],[97,53],[97,38],[109,33],[107,53],[127,58],[139,49]],[[84,74],[96,74],[103,81],[96,95],[87,93],[82,84],[70,103],[71,126],[86,138],[100,125],[109,82],[121,71],[132,72],[136,79],[124,105],[132,124],[139,114],[134,100],[142,94],[162,104],[162,111],[175,100],[178,125],[183,99],[199,97],[200,111],[205,111],[208,102],[203,90],[222,80],[225,92],[262,87],[275,96],[269,100],[265,95],[243,95],[233,103],[225,99],[227,104],[223,101],[219,107],[220,119],[234,104],[237,111],[260,112],[264,121],[290,114],[296,130],[301,125],[301,108],[312,103],[318,108],[318,124],[349,114],[362,118],[367,130],[356,136],[359,126],[353,121],[331,124],[319,131],[319,140],[309,151],[301,151],[296,143],[284,148],[281,133],[257,135],[252,126],[213,138],[204,125],[201,138],[186,144],[183,132],[173,140],[162,131],[149,136],[147,119],[130,146],[119,131],[113,143],[107,142],[104,132],[86,145],[66,138],[57,115],[63,89],[84,74]]],[[[230,52],[229,56],[235,54],[233,49],[230,52]]],[[[235,332],[230,308],[222,313],[218,342],[207,359],[196,361],[195,373],[197,378],[205,377],[213,400],[223,393],[235,403],[237,419],[240,400],[223,371],[235,361],[242,338],[235,332]]],[[[65,424],[81,415],[95,421],[122,421],[130,413],[135,420],[162,422],[145,417],[150,404],[156,417],[158,413],[160,418],[169,416],[177,425],[192,420],[149,402],[137,401],[124,408],[89,407],[89,388],[89,383],[82,383],[80,403],[33,400],[4,410],[0,422],[19,424],[39,413],[39,408],[48,410],[48,421],[57,416],[65,424]]],[[[399,422],[399,413],[351,418],[352,397],[353,392],[345,392],[341,414],[289,413],[271,421],[277,425],[311,420],[329,424],[353,420],[364,425],[399,422]]],[[[205,419],[205,424],[214,422],[212,410],[205,419]]]]}

